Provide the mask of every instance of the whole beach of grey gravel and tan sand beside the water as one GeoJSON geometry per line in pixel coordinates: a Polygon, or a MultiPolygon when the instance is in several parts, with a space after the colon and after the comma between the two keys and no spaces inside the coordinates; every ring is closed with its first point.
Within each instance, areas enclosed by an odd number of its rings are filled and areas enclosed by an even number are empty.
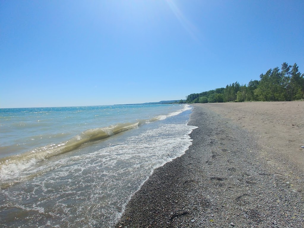
{"type": "Polygon", "coordinates": [[[115,227],[304,227],[304,102],[193,106],[193,144],[115,227]]]}

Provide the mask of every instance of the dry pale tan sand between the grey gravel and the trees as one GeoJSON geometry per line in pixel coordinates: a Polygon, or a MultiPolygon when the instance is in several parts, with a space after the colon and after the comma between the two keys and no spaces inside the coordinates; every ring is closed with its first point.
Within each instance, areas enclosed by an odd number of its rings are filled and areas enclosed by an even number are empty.
{"type": "Polygon", "coordinates": [[[203,107],[259,136],[275,162],[292,162],[304,171],[304,102],[209,103],[203,107]]]}

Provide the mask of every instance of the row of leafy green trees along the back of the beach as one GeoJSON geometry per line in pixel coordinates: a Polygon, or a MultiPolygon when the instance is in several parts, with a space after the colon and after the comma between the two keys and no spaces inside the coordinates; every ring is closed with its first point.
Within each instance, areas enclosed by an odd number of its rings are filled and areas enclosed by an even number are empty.
{"type": "Polygon", "coordinates": [[[240,85],[237,81],[226,88],[217,88],[186,97],[186,103],[215,103],[243,101],[294,101],[304,99],[304,74],[297,64],[283,63],[260,75],[260,80],[240,85]]]}

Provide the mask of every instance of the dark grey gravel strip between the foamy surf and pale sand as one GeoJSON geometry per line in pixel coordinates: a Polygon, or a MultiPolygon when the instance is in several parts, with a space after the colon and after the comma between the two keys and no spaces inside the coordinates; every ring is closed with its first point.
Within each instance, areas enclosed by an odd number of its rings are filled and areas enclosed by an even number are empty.
{"type": "Polygon", "coordinates": [[[202,105],[188,124],[192,145],[153,172],[115,227],[304,227],[302,170],[270,162],[255,134],[202,105]]]}

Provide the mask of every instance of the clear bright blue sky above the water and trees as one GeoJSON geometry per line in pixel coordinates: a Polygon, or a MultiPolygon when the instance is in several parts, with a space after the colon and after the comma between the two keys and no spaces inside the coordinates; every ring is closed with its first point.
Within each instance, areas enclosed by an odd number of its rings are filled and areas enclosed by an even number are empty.
{"type": "Polygon", "coordinates": [[[304,73],[304,1],[1,1],[0,108],[185,99],[304,73]]]}

